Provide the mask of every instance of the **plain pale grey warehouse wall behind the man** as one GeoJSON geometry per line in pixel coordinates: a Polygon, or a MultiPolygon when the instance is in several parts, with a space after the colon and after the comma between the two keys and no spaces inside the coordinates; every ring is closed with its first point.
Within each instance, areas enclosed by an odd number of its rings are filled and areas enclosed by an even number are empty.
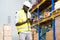
{"type": "Polygon", "coordinates": [[[22,8],[22,3],[25,0],[0,0],[0,25],[10,22],[13,29],[13,40],[18,40],[15,24],[15,13],[22,8]],[[9,17],[9,18],[8,18],[9,17]],[[8,20],[9,19],[9,20],[8,20]]]}

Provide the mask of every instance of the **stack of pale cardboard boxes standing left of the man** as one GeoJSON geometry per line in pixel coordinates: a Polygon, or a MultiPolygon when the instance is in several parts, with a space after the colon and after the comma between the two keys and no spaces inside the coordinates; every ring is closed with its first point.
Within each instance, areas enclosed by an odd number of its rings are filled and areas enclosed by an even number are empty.
{"type": "Polygon", "coordinates": [[[4,24],[4,40],[12,40],[12,26],[4,24]]]}

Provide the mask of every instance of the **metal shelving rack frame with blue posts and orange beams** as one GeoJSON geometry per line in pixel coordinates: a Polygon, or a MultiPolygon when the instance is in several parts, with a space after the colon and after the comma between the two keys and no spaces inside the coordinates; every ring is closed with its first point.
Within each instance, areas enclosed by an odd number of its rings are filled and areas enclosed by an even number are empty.
{"type": "MultiPolygon", "coordinates": [[[[44,2],[45,0],[43,0],[43,2],[44,2]]],[[[38,18],[40,17],[40,9],[39,9],[39,6],[43,3],[43,2],[41,2],[41,3],[39,3],[31,12],[33,12],[36,8],[37,8],[37,13],[38,13],[38,18]]],[[[52,0],[52,8],[51,8],[51,11],[53,11],[54,10],[54,0],[52,0]]],[[[51,15],[50,17],[48,17],[48,18],[45,18],[45,19],[43,19],[42,21],[39,21],[39,22],[37,22],[37,23],[35,23],[34,25],[36,25],[36,24],[38,24],[38,40],[41,40],[40,39],[40,23],[43,23],[43,22],[45,22],[45,21],[48,21],[48,20],[52,20],[52,29],[53,29],[53,40],[56,40],[56,30],[55,30],[55,18],[56,17],[58,17],[58,16],[60,16],[60,12],[59,13],[57,13],[56,15],[51,15]]],[[[33,26],[34,26],[33,25],[33,26]]]]}

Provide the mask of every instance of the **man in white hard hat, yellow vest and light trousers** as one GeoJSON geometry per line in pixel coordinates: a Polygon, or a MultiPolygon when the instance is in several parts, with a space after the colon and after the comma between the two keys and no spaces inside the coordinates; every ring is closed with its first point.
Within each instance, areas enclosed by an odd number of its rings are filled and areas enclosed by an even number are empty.
{"type": "Polygon", "coordinates": [[[25,1],[23,8],[17,13],[16,28],[18,30],[19,40],[32,40],[30,8],[32,8],[32,4],[29,1],[25,1]]]}

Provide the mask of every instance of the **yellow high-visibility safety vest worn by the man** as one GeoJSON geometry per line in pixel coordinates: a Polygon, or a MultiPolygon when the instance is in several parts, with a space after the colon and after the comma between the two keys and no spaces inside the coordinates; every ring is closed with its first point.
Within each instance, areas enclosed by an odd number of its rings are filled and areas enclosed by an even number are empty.
{"type": "MultiPolygon", "coordinates": [[[[21,9],[18,14],[18,22],[25,22],[27,20],[27,17],[26,17],[26,13],[24,12],[23,9],[21,9]]],[[[30,18],[31,15],[30,13],[28,12],[28,18],[30,18]]],[[[20,26],[16,26],[18,32],[25,32],[25,31],[28,31],[28,30],[31,30],[31,27],[30,27],[30,23],[25,23],[25,24],[22,24],[20,26]]]]}

